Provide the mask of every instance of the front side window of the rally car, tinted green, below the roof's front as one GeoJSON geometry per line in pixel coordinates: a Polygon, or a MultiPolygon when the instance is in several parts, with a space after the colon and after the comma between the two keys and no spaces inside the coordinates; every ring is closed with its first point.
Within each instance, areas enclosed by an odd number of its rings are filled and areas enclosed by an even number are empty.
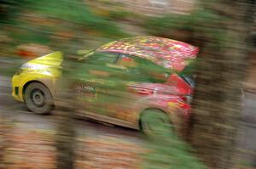
{"type": "Polygon", "coordinates": [[[106,65],[114,64],[118,59],[119,54],[115,53],[93,53],[86,58],[86,64],[90,65],[106,65]]]}

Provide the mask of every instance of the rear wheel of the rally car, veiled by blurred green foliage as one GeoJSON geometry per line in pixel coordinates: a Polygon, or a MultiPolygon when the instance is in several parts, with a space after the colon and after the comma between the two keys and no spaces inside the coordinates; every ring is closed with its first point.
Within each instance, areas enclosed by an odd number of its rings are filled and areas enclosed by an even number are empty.
{"type": "Polygon", "coordinates": [[[172,123],[161,110],[145,110],[141,116],[141,127],[148,137],[173,136],[172,123]]]}

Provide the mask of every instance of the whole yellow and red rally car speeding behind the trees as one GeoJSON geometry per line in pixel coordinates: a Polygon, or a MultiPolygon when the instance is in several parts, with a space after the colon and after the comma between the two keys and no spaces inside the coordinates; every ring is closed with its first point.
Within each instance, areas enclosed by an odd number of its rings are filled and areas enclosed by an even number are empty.
{"type": "MultiPolygon", "coordinates": [[[[76,112],[148,134],[181,130],[195,86],[184,72],[197,53],[188,43],[148,36],[82,52],[72,68],[76,112]]],[[[33,113],[49,114],[63,69],[61,52],[32,59],[13,76],[13,97],[33,113]]]]}

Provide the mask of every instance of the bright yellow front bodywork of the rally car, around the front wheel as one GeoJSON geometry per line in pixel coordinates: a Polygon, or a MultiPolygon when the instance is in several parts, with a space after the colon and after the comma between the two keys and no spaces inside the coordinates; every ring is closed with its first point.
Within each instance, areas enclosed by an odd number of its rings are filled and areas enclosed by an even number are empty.
{"type": "Polygon", "coordinates": [[[31,81],[42,82],[54,92],[55,80],[61,76],[62,61],[62,53],[55,52],[26,62],[12,78],[12,96],[24,102],[23,89],[26,83],[31,81]],[[19,87],[18,95],[15,94],[15,87],[19,87]]]}

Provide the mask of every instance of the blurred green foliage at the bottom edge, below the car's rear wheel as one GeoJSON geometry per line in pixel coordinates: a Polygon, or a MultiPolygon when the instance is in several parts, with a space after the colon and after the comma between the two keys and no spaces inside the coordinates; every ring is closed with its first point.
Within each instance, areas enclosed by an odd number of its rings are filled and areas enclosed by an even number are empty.
{"type": "Polygon", "coordinates": [[[144,155],[143,168],[145,169],[204,169],[201,161],[189,151],[189,144],[179,138],[159,138],[148,144],[151,151],[144,155]]]}

